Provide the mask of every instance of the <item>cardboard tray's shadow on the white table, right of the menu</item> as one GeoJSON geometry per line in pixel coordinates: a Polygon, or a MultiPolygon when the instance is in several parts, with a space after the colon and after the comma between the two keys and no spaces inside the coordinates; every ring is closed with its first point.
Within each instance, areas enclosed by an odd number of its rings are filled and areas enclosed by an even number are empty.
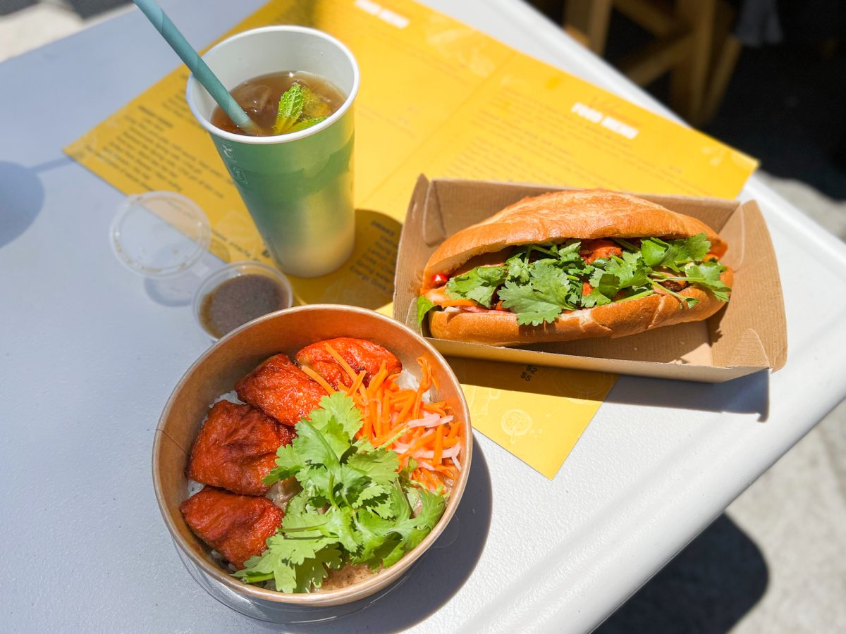
{"type": "Polygon", "coordinates": [[[770,372],[762,370],[725,383],[627,376],[618,380],[605,400],[708,412],[756,413],[758,420],[764,422],[770,411],[770,372]]]}

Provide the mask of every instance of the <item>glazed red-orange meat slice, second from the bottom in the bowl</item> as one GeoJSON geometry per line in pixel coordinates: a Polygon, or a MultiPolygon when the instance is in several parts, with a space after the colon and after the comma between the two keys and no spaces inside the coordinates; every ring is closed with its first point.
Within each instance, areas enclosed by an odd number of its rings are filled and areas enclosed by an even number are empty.
{"type": "Polygon", "coordinates": [[[203,484],[242,495],[265,495],[261,478],[276,465],[279,445],[289,445],[294,430],[249,405],[220,401],[191,448],[188,476],[203,484]]]}

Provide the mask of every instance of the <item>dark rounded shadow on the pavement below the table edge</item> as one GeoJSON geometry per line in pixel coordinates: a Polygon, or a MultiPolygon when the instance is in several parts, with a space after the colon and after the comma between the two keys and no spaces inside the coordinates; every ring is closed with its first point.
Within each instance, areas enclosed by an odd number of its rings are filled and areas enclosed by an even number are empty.
{"type": "Polygon", "coordinates": [[[768,579],[761,550],[722,515],[595,634],[729,631],[761,599],[768,579]]]}

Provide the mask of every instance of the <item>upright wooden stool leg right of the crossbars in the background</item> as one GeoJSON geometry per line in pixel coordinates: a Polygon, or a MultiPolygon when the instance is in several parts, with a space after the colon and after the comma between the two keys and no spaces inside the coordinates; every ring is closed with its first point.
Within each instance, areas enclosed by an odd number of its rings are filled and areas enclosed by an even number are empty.
{"type": "Polygon", "coordinates": [[[689,25],[693,38],[689,56],[673,70],[670,103],[673,110],[697,124],[711,62],[715,0],[676,0],[676,16],[689,25]]]}

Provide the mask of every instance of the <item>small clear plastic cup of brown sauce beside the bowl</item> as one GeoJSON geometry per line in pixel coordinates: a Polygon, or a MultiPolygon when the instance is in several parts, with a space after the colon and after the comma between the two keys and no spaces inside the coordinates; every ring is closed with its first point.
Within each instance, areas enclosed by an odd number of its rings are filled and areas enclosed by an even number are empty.
{"type": "Polygon", "coordinates": [[[204,331],[219,339],[293,303],[291,283],[281,272],[259,262],[233,262],[202,281],[194,295],[194,316],[204,331]]]}

